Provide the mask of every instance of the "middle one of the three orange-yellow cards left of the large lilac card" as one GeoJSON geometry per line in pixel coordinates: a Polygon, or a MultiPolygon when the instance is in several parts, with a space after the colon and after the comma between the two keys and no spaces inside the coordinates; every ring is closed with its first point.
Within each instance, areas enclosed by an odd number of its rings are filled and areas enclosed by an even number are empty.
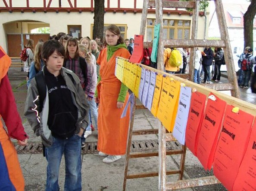
{"type": "Polygon", "coordinates": [[[162,122],[162,125],[168,129],[168,127],[171,126],[171,121],[169,118],[169,112],[167,110],[168,107],[168,101],[169,101],[169,91],[170,91],[170,85],[171,85],[171,81],[170,78],[167,77],[163,77],[162,78],[162,89],[161,89],[161,97],[159,100],[159,107],[158,107],[158,111],[157,111],[157,115],[156,117],[159,118],[159,120],[162,122]]]}

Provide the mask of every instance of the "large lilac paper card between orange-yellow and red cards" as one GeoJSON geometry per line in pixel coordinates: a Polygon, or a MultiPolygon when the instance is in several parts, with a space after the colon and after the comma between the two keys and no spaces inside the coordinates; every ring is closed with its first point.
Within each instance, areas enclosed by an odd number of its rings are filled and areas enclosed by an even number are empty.
{"type": "Polygon", "coordinates": [[[181,87],[178,101],[178,111],[175,119],[173,136],[181,143],[185,144],[185,132],[187,126],[187,117],[190,109],[191,88],[181,87]]]}

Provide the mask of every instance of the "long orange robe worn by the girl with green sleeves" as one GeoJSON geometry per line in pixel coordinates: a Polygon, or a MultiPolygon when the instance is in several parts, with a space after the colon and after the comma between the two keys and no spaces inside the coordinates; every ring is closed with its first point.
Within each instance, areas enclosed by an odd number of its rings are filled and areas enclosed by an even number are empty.
{"type": "MultiPolygon", "coordinates": [[[[125,155],[126,141],[129,127],[130,107],[126,117],[121,118],[123,109],[117,108],[121,82],[115,76],[116,56],[129,58],[130,53],[126,49],[118,49],[107,61],[107,49],[100,52],[97,64],[100,65],[101,81],[97,85],[98,98],[98,146],[100,152],[108,155],[125,155]]],[[[126,105],[128,92],[125,97],[126,105]]]]}

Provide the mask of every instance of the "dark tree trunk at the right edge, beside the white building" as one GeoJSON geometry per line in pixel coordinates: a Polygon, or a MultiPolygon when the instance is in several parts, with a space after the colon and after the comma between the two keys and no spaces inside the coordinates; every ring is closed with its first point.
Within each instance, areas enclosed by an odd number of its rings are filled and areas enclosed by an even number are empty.
{"type": "Polygon", "coordinates": [[[247,11],[244,13],[244,48],[253,49],[253,19],[256,14],[256,0],[251,0],[247,11]]]}

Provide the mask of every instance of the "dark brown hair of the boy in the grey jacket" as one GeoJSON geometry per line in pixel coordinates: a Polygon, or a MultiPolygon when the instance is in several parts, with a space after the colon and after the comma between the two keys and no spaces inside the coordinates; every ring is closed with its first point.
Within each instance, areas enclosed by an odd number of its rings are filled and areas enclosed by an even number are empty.
{"type": "Polygon", "coordinates": [[[42,48],[42,59],[44,60],[44,65],[46,65],[45,60],[48,60],[50,55],[52,55],[54,51],[56,51],[59,56],[65,56],[65,49],[58,40],[53,39],[44,42],[42,48]]]}

